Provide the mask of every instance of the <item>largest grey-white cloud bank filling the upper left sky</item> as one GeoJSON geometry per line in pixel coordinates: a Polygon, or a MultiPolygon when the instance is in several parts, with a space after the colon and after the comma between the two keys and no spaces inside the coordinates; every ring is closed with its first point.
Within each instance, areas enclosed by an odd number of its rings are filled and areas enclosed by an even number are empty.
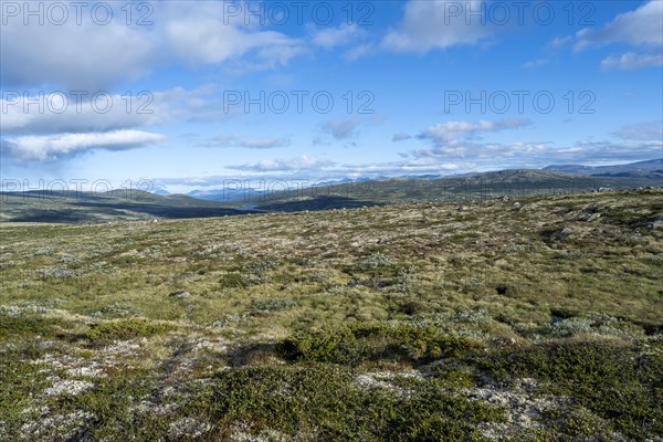
{"type": "MultiPolygon", "coordinates": [[[[114,9],[114,19],[104,24],[93,20],[90,6],[80,22],[74,10],[63,24],[40,24],[36,19],[24,24],[22,14],[6,18],[0,39],[3,85],[103,90],[145,76],[156,66],[217,65],[251,57],[246,65],[266,69],[308,51],[303,39],[245,25],[243,18],[229,19],[223,2],[194,8],[186,2],[150,2],[152,24],[145,25],[127,25],[123,4],[105,4],[114,9]]],[[[320,42],[335,38],[340,39],[323,35],[320,42]]]]}

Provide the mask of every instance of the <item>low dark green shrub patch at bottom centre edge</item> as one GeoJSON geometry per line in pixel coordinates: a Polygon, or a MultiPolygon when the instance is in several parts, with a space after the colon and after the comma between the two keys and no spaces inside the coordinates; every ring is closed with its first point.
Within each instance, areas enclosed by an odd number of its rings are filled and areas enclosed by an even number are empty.
{"type": "MultiPolygon", "coordinates": [[[[407,397],[358,388],[351,371],[335,365],[252,367],[219,373],[204,412],[219,428],[249,425],[315,434],[316,440],[477,440],[476,424],[503,421],[499,409],[420,382],[407,397]]],[[[219,435],[219,439],[228,434],[219,435]]]]}

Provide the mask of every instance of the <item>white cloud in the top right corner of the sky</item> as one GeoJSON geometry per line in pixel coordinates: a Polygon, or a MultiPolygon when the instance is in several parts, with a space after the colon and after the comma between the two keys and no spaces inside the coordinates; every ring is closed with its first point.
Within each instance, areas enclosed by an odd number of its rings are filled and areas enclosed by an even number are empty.
{"type": "Polygon", "coordinates": [[[660,48],[663,45],[663,1],[651,0],[640,8],[618,14],[599,30],[583,29],[576,33],[576,51],[610,43],[660,48]]]}

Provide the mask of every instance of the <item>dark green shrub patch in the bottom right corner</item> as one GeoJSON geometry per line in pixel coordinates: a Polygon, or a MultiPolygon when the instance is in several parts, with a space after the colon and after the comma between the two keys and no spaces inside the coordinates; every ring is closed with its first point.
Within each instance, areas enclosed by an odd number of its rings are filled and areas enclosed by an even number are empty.
{"type": "MultiPolygon", "coordinates": [[[[559,340],[499,348],[474,364],[493,377],[535,377],[636,440],[663,434],[663,345],[559,340]]],[[[568,423],[568,422],[567,422],[568,423]]],[[[569,423],[571,427],[573,423],[569,423]]]]}

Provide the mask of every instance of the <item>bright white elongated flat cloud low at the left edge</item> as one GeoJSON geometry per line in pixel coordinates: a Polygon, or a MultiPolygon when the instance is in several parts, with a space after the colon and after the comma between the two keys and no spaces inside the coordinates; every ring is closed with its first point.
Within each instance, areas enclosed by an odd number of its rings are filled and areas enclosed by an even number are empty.
{"type": "Polygon", "coordinates": [[[166,140],[159,134],[141,130],[114,130],[86,134],[21,136],[3,139],[3,150],[19,160],[52,161],[61,156],[92,149],[123,150],[166,140]]]}

